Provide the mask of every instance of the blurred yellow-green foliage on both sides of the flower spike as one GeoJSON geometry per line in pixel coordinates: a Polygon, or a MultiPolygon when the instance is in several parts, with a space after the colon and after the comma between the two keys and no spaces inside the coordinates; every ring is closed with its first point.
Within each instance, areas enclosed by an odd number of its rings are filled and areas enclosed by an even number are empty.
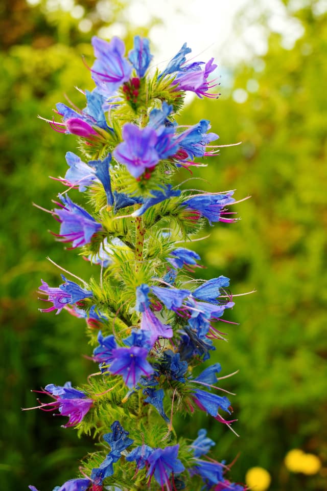
{"type": "MultiPolygon", "coordinates": [[[[202,276],[230,277],[233,294],[257,291],[236,297],[228,319],[240,324],[221,324],[229,343],[218,343],[213,357],[222,364],[222,375],[240,369],[222,387],[237,392],[232,399],[241,437],[201,415],[197,423],[216,439],[218,459],[231,461],[240,452],[233,480],[244,481],[249,467],[261,465],[272,475],[272,491],[322,491],[323,473],[290,476],[283,464],[294,447],[327,460],[327,19],[314,16],[310,7],[295,15],[305,34],[293,49],[283,49],[279,36],[271,34],[267,55],[238,67],[230,93],[222,80],[219,101],[196,100],[180,119],[184,124],[209,119],[221,144],[243,142],[208,158],[206,169],[194,169],[193,176],[207,182],[191,181],[199,189],[237,189],[237,199],[250,194],[235,206],[242,220],[209,228],[210,238],[192,247],[207,267],[202,276]],[[239,88],[247,91],[243,104],[233,99],[239,88]]],[[[52,489],[75,476],[78,460],[93,447],[91,440],[78,441],[74,431],[61,429],[60,418],[20,411],[35,405],[30,389],[67,379],[78,386],[96,371],[82,356],[89,354],[83,321],[37,310],[40,278],[60,283],[60,271],[46,256],[86,279],[98,274],[76,251],[54,241],[48,229],[57,232],[56,222],[32,207],[35,202],[51,208],[50,199],[63,188],[48,175],[62,176],[64,154],[76,148],[74,137],[57,134],[36,115],[51,118],[64,93],[83,105],[74,85],[92,86],[81,59],[84,54],[91,63],[89,45],[68,48],[56,40],[54,35],[52,46],[43,49],[11,42],[0,53],[5,374],[0,480],[8,490],[28,484],[52,489]]],[[[188,177],[182,171],[181,180],[188,177]]],[[[70,194],[78,200],[78,192],[70,194]]],[[[194,420],[178,424],[185,435],[196,436],[194,420]]]]}

